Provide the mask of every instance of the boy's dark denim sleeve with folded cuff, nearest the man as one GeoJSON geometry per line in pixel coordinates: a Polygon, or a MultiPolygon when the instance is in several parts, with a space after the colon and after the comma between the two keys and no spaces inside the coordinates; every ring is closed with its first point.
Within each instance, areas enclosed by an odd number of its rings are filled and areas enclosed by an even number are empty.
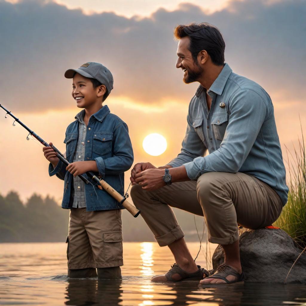
{"type": "Polygon", "coordinates": [[[119,174],[129,170],[134,161],[132,143],[129,137],[128,126],[121,122],[113,132],[114,156],[103,159],[95,158],[99,176],[119,174]]]}

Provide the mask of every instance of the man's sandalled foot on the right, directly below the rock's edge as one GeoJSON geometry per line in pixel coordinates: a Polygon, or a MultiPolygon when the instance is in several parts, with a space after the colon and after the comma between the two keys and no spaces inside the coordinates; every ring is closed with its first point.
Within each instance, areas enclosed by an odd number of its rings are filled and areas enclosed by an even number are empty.
{"type": "Polygon", "coordinates": [[[211,276],[208,276],[200,281],[200,285],[207,285],[207,284],[230,284],[234,282],[241,282],[243,281],[244,276],[240,270],[236,270],[235,268],[222,263],[215,271],[215,273],[211,276]]]}

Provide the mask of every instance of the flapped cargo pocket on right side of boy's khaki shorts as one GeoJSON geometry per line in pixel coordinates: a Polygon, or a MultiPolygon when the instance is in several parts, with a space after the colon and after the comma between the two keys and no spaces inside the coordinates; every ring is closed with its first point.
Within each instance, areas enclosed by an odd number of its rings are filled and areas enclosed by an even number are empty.
{"type": "Polygon", "coordinates": [[[103,234],[104,259],[105,261],[121,260],[122,252],[122,232],[107,232],[103,234]]]}

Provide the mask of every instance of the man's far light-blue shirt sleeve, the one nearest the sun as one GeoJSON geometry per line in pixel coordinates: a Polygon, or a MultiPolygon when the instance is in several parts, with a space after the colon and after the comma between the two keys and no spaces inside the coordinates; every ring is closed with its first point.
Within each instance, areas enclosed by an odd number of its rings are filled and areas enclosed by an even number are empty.
{"type": "Polygon", "coordinates": [[[195,129],[192,126],[192,120],[190,116],[190,110],[187,116],[187,129],[185,137],[182,141],[181,152],[176,158],[172,159],[167,165],[172,167],[179,167],[185,163],[191,162],[198,156],[203,156],[207,148],[203,141],[200,139],[195,129]]]}

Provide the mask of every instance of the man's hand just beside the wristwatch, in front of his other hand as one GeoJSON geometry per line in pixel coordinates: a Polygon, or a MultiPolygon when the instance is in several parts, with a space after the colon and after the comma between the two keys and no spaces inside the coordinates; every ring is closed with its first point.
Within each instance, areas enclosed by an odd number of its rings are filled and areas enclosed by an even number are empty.
{"type": "Polygon", "coordinates": [[[166,186],[166,183],[162,180],[164,175],[164,170],[147,169],[138,174],[135,174],[134,180],[135,184],[140,185],[142,189],[152,191],[166,186]]]}

